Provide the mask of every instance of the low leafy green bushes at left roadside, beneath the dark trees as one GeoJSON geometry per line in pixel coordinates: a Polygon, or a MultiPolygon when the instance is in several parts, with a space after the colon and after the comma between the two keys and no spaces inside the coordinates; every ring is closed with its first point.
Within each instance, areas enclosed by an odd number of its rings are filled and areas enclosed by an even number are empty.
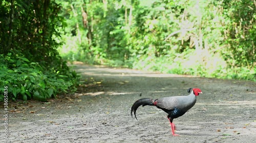
{"type": "MultiPolygon", "coordinates": [[[[76,76],[74,72],[70,73],[71,75],[61,75],[60,72],[56,73],[53,70],[43,73],[44,70],[38,63],[30,62],[20,56],[17,59],[11,57],[11,54],[0,56],[3,69],[0,72],[0,84],[8,86],[9,98],[46,102],[49,98],[56,98],[56,94],[67,93],[72,88],[76,90],[74,86],[76,82],[72,81],[76,76]]],[[[69,73],[69,70],[66,73],[69,73]]],[[[3,88],[0,87],[0,90],[3,91],[3,88]]],[[[2,100],[1,96],[0,101],[2,100]]]]}

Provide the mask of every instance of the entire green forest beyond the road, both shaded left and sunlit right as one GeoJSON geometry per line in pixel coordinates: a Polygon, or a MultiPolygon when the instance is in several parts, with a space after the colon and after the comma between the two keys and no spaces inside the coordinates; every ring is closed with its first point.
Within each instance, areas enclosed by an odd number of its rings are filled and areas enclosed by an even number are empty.
{"type": "Polygon", "coordinates": [[[255,18],[255,0],[3,0],[0,91],[73,93],[73,61],[256,81],[255,18]]]}

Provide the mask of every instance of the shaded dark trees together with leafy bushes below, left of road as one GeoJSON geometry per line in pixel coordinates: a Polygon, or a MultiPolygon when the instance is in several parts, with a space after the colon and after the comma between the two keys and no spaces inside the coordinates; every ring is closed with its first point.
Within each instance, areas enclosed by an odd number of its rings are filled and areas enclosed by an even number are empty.
{"type": "Polygon", "coordinates": [[[9,99],[47,101],[76,90],[79,76],[57,51],[59,9],[50,0],[0,2],[0,92],[8,85],[9,99]]]}

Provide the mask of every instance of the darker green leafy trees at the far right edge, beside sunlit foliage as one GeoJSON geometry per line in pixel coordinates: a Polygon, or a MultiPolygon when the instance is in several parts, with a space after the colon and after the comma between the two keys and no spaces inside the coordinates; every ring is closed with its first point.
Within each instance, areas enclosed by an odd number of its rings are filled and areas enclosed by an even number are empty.
{"type": "Polygon", "coordinates": [[[225,16],[230,18],[230,22],[226,24],[229,49],[223,51],[225,61],[230,67],[252,69],[256,61],[255,2],[245,0],[224,3],[225,16]]]}

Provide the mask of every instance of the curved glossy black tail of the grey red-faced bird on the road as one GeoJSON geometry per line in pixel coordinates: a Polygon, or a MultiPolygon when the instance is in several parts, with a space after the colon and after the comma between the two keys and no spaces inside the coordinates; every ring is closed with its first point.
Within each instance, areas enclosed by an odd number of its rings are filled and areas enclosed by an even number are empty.
{"type": "MultiPolygon", "coordinates": [[[[146,106],[146,105],[155,106],[155,105],[154,105],[154,102],[155,102],[155,101],[156,101],[156,100],[151,99],[151,98],[142,98],[142,99],[137,100],[137,101],[133,104],[133,106],[132,106],[132,108],[131,108],[131,116],[133,117],[133,112],[134,112],[134,116],[135,116],[135,118],[137,119],[137,117],[136,117],[136,110],[138,109],[138,107],[141,106],[141,105],[142,105],[142,107],[143,107],[143,106],[146,106]]],[[[138,119],[137,119],[137,120],[138,120],[138,119]]]]}

